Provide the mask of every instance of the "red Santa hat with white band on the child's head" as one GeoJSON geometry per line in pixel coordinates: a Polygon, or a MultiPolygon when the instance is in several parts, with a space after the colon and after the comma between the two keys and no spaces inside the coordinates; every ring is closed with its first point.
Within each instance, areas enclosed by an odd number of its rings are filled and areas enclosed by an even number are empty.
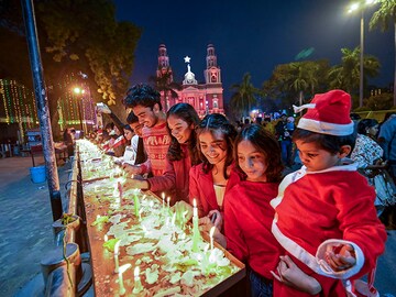
{"type": "Polygon", "coordinates": [[[353,133],[350,118],[351,96],[343,90],[317,94],[309,105],[295,107],[295,112],[308,108],[297,128],[321,134],[345,136],[353,133]]]}

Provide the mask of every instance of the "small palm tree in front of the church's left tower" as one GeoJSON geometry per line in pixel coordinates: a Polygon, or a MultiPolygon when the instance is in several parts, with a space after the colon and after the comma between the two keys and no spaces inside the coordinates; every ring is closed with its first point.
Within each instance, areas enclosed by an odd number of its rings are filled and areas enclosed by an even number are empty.
{"type": "Polygon", "coordinates": [[[164,94],[165,107],[167,111],[178,98],[177,90],[182,90],[182,85],[173,81],[173,73],[169,67],[161,69],[160,76],[151,76],[148,80],[153,81],[157,91],[164,94]],[[173,103],[169,99],[173,99],[173,103]]]}

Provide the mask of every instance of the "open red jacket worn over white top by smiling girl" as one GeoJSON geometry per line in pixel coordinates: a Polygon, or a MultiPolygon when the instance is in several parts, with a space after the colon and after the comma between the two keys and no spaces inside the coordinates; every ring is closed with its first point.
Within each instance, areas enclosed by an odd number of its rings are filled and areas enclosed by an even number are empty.
{"type": "MultiPolygon", "coordinates": [[[[234,165],[230,177],[227,182],[226,193],[229,191],[241,178],[234,169],[234,165]]],[[[213,177],[211,172],[204,173],[202,164],[193,166],[189,172],[189,201],[193,205],[193,200],[196,199],[199,217],[205,217],[210,210],[222,211],[222,206],[219,207],[213,187],[213,177]]]]}

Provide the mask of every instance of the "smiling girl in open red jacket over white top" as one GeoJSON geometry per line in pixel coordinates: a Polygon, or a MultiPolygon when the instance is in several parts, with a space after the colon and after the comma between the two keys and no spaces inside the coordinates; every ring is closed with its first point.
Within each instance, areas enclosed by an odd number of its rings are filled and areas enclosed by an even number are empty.
{"type": "MultiPolygon", "coordinates": [[[[200,224],[207,224],[215,212],[215,224],[221,230],[224,193],[239,183],[233,169],[235,128],[220,113],[206,116],[197,129],[202,164],[194,166],[189,178],[189,200],[197,201],[200,224]]],[[[205,228],[204,228],[205,229],[205,228]]]]}

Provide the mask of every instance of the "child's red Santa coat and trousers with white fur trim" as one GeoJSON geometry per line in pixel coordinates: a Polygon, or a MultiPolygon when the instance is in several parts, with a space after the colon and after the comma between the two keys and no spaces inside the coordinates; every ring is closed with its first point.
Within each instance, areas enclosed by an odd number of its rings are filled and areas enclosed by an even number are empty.
{"type": "MultiPolygon", "coordinates": [[[[345,296],[339,279],[361,277],[384,252],[386,232],[376,217],[375,191],[356,165],[289,174],[279,185],[272,231],[286,253],[322,286],[320,296],[345,296]],[[324,262],[328,245],[351,244],[356,264],[334,272],[324,262]]],[[[274,283],[274,296],[309,296],[274,283]]]]}

